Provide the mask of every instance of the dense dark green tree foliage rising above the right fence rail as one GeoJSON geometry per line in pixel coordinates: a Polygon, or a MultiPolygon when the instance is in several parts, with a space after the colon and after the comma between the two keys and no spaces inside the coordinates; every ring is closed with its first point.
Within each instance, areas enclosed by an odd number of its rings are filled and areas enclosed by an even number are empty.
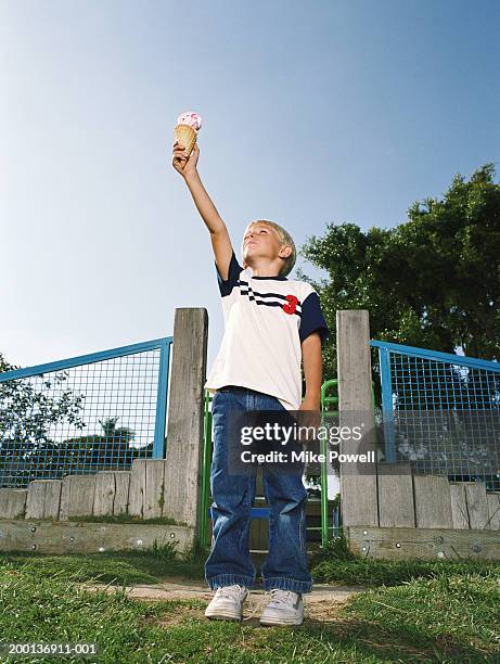
{"type": "MultiPolygon", "coordinates": [[[[368,309],[372,339],[500,359],[500,184],[486,164],[457,175],[441,200],[425,199],[393,229],[330,224],[302,254],[328,270],[317,283],[326,322],[337,309],[368,309]]],[[[376,357],[374,354],[374,363],[376,357]]],[[[332,337],[324,375],[336,374],[332,337]]]]}

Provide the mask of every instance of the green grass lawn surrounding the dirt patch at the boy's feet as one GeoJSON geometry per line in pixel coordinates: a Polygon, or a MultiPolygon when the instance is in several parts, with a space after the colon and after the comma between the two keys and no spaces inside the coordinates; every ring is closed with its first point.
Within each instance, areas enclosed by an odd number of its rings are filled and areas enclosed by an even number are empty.
{"type": "Polygon", "coordinates": [[[119,587],[110,595],[80,585],[158,583],[200,573],[205,556],[194,548],[180,558],[170,545],[85,557],[0,554],[0,643],[95,641],[92,661],[105,663],[500,662],[498,563],[383,563],[352,557],[336,540],[311,560],[315,582],[322,571],[335,583],[363,579],[372,588],[294,628],[210,622],[201,600],[143,602],[119,587]]]}

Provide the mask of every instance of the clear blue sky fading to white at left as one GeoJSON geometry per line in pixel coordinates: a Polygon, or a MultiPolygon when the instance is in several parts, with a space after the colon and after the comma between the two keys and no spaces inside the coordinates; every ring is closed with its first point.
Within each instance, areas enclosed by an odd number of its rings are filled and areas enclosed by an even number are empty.
{"type": "Polygon", "coordinates": [[[456,173],[500,170],[499,34],[496,0],[0,0],[0,350],[62,359],[206,307],[211,363],[222,312],[177,116],[204,119],[236,253],[257,217],[297,245],[394,227],[456,173]]]}

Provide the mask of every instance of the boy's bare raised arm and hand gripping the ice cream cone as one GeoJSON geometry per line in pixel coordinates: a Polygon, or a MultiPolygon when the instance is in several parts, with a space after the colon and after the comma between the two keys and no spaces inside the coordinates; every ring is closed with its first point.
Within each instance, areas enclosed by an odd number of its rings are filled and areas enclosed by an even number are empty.
{"type": "Polygon", "coordinates": [[[210,233],[211,247],[214,250],[219,273],[223,280],[227,280],[229,277],[229,264],[233,247],[226,224],[220,218],[197,171],[196,164],[200,156],[200,148],[194,143],[193,152],[188,158],[183,146],[179,145],[176,141],[176,143],[174,143],[172,153],[172,166],[184,178],[184,182],[193,196],[200,216],[210,233]]]}

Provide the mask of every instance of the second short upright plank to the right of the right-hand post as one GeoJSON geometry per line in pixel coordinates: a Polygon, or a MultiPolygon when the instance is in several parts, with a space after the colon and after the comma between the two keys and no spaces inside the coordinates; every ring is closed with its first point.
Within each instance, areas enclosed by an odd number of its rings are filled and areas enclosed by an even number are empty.
{"type": "Polygon", "coordinates": [[[418,528],[451,528],[450,484],[441,475],[413,475],[418,528]]]}

